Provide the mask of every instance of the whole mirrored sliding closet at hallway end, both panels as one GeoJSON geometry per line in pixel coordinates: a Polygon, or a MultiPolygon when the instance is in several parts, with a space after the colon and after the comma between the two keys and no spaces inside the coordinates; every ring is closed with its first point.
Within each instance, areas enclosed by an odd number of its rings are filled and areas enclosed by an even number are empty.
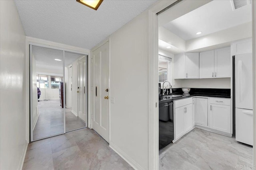
{"type": "Polygon", "coordinates": [[[86,127],[87,55],[30,45],[31,141],[86,127]]]}

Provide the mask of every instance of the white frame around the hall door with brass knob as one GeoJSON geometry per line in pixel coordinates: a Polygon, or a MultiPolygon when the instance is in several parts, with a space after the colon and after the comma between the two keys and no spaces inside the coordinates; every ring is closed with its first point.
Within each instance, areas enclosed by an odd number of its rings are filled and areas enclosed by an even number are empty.
{"type": "MultiPolygon", "coordinates": [[[[93,56],[92,56],[92,52],[95,51],[96,49],[100,48],[102,45],[106,44],[106,43],[109,43],[108,45],[108,48],[109,48],[109,67],[108,67],[108,72],[109,72],[109,75],[108,75],[108,88],[109,88],[109,97],[111,96],[111,87],[110,87],[110,59],[111,59],[111,55],[110,55],[110,37],[107,37],[105,40],[103,40],[101,43],[99,43],[98,45],[96,45],[95,47],[93,47],[91,49],[91,53],[90,53],[90,62],[89,62],[89,59],[88,59],[88,63],[91,63],[91,64],[88,64],[88,66],[90,65],[90,80],[91,80],[91,83],[90,83],[90,88],[91,88],[91,95],[90,95],[90,100],[91,100],[91,114],[88,115],[88,122],[89,122],[89,119],[90,119],[90,124],[88,123],[88,127],[90,129],[93,129],[93,126],[92,126],[92,122],[93,122],[93,114],[94,114],[94,105],[95,105],[95,102],[94,102],[94,59],[93,59],[93,56]]],[[[88,73],[89,74],[89,73],[88,73]]],[[[109,110],[108,110],[108,116],[109,116],[109,143],[110,143],[110,100],[108,100],[108,105],[109,105],[109,110]]]]}

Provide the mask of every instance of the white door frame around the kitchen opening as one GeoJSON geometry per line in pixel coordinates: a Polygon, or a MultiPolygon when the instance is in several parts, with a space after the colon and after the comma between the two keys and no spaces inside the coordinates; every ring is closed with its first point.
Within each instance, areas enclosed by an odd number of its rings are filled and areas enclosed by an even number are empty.
{"type": "MultiPolygon", "coordinates": [[[[148,103],[149,103],[149,169],[158,170],[159,150],[158,150],[158,23],[157,14],[165,10],[170,5],[174,5],[178,0],[156,2],[149,8],[148,18],[148,103]]],[[[253,70],[253,164],[256,164],[256,2],[252,1],[252,68],[253,70]]]]}

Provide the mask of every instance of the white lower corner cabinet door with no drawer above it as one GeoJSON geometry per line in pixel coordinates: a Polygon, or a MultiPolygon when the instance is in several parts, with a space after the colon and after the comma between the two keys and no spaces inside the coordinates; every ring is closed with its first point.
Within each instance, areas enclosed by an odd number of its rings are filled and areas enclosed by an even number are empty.
{"type": "Polygon", "coordinates": [[[208,126],[208,99],[194,98],[193,113],[197,125],[208,126]]]}

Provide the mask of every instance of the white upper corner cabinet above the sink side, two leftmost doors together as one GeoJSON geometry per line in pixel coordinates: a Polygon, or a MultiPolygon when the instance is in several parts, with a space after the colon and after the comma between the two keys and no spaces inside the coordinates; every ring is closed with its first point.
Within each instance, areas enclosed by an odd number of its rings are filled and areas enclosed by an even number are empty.
{"type": "Polygon", "coordinates": [[[182,53],[174,57],[174,78],[199,78],[199,53],[182,53]]]}

